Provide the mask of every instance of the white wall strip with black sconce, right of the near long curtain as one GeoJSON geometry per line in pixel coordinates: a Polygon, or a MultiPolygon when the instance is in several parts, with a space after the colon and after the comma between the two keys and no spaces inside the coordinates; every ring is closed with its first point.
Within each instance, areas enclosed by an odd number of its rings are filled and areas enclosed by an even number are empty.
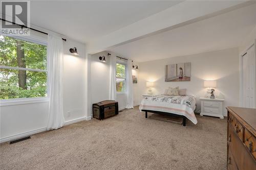
{"type": "Polygon", "coordinates": [[[64,43],[64,53],[63,110],[67,122],[87,116],[87,59],[85,45],[69,38],[64,43]],[[73,47],[77,47],[79,57],[70,55],[69,49],[73,47]]]}

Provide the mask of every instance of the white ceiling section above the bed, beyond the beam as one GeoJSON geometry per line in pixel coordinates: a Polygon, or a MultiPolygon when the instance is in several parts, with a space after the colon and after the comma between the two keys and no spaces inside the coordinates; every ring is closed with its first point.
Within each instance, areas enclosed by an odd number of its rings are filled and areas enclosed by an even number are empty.
{"type": "Polygon", "coordinates": [[[256,26],[256,4],[109,49],[137,62],[238,47],[256,26]]]}

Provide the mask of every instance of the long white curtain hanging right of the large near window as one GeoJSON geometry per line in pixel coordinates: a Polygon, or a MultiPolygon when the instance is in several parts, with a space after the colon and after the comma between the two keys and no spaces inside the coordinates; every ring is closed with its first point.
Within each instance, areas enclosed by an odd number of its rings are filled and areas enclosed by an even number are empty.
{"type": "Polygon", "coordinates": [[[48,83],[49,83],[49,115],[47,130],[61,128],[63,115],[63,42],[61,37],[48,35],[47,44],[48,83]]]}

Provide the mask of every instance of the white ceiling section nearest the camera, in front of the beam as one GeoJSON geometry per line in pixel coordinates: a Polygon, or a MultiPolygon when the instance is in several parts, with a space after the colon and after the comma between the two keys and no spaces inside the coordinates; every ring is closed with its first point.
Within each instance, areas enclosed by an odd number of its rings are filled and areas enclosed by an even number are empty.
{"type": "Polygon", "coordinates": [[[31,23],[87,43],[182,1],[31,1],[31,23]]]}

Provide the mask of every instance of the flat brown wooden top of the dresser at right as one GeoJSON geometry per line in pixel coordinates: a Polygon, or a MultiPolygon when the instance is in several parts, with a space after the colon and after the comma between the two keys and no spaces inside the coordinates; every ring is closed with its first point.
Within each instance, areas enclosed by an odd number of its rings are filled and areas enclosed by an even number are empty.
{"type": "Polygon", "coordinates": [[[240,122],[245,122],[247,128],[255,135],[256,132],[256,109],[242,107],[227,107],[227,110],[232,112],[240,122]],[[242,119],[242,120],[241,120],[242,119]]]}

